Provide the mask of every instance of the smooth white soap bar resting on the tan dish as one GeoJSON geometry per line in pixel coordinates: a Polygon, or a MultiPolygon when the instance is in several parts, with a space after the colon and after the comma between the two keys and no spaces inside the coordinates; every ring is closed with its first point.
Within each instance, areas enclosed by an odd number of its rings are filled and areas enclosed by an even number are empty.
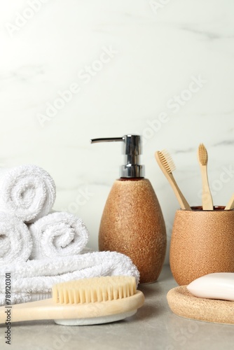
{"type": "Polygon", "coordinates": [[[195,297],[234,301],[234,273],[206,274],[189,283],[187,289],[195,297]]]}

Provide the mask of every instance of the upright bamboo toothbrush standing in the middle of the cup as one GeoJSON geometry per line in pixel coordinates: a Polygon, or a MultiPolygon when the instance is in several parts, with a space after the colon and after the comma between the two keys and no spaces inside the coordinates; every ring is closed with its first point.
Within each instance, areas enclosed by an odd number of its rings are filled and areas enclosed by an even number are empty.
{"type": "Polygon", "coordinates": [[[202,209],[213,210],[214,204],[212,201],[212,194],[209,190],[209,181],[207,176],[208,153],[203,144],[200,144],[198,148],[198,161],[202,173],[202,209]]]}

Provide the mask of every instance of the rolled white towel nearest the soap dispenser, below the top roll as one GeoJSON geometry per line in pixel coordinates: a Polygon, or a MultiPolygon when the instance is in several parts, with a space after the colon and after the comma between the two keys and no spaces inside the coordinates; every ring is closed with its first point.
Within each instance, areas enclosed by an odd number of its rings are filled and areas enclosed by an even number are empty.
{"type": "Polygon", "coordinates": [[[30,259],[57,258],[81,253],[88,242],[88,230],[77,216],[55,212],[29,225],[33,248],[30,259]]]}

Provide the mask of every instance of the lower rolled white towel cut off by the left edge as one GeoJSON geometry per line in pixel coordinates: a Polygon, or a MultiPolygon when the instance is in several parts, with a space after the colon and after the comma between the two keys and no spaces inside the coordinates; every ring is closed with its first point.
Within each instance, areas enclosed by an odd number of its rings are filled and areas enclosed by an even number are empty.
{"type": "Polygon", "coordinates": [[[27,225],[16,216],[0,212],[0,266],[25,262],[32,251],[32,237],[27,225]]]}

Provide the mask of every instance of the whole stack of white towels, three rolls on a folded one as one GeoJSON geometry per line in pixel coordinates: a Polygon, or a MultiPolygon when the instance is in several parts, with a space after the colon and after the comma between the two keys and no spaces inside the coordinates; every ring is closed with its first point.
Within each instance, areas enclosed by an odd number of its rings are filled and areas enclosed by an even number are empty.
{"type": "Polygon", "coordinates": [[[0,304],[11,274],[11,303],[50,297],[55,283],[94,276],[130,275],[137,267],[116,252],[88,252],[88,230],[77,216],[51,212],[55,182],[35,165],[0,173],[0,304]]]}

